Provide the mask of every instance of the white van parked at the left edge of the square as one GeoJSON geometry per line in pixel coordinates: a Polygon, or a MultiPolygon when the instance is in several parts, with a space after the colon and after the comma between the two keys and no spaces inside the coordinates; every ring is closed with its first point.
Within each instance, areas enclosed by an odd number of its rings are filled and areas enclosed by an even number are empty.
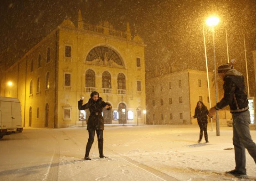
{"type": "Polygon", "coordinates": [[[5,134],[22,130],[19,99],[0,97],[0,139],[5,134]]]}

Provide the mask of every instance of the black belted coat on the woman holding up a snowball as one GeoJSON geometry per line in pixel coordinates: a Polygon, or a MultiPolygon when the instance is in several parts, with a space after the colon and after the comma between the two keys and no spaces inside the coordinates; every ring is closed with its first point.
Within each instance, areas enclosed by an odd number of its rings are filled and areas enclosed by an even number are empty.
{"type": "MultiPolygon", "coordinates": [[[[78,101],[79,110],[89,109],[91,113],[87,121],[87,130],[104,130],[104,119],[101,112],[106,105],[110,106],[110,104],[104,102],[102,98],[99,98],[97,101],[90,98],[88,103],[84,105],[83,100],[78,101]]],[[[109,109],[110,108],[107,110],[109,109]]]]}

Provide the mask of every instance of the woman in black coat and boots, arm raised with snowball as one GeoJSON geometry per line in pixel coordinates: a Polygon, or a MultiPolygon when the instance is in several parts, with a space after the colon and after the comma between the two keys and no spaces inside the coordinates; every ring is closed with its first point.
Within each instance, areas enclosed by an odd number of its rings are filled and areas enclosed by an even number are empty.
{"type": "Polygon", "coordinates": [[[79,110],[89,109],[90,111],[90,116],[87,121],[87,130],[89,133],[89,138],[86,144],[84,159],[91,160],[91,158],[89,157],[89,153],[92,147],[92,143],[94,141],[95,131],[98,137],[98,147],[99,147],[100,158],[104,158],[106,156],[103,155],[104,119],[102,116],[102,109],[105,108],[107,110],[110,110],[112,106],[104,102],[102,98],[100,98],[100,94],[96,91],[93,91],[91,93],[91,98],[88,100],[88,103],[84,105],[83,105],[83,99],[84,97],[82,97],[78,101],[78,109],[79,110]]]}

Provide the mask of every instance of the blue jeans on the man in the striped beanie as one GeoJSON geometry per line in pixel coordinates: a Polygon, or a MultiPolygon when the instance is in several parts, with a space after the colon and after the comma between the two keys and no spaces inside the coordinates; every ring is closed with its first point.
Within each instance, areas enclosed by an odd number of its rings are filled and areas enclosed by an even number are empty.
{"type": "Polygon", "coordinates": [[[233,145],[235,148],[235,160],[236,160],[236,170],[243,174],[246,174],[245,169],[245,149],[254,159],[256,163],[256,145],[252,141],[250,134],[249,124],[250,113],[249,110],[242,113],[235,113],[233,117],[233,145]]]}

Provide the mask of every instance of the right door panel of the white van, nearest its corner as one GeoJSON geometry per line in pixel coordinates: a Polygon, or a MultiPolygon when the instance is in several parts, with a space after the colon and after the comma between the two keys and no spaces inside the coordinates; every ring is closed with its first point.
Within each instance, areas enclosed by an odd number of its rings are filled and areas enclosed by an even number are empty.
{"type": "Polygon", "coordinates": [[[12,102],[12,127],[20,128],[21,126],[21,109],[19,102],[12,102]]]}

